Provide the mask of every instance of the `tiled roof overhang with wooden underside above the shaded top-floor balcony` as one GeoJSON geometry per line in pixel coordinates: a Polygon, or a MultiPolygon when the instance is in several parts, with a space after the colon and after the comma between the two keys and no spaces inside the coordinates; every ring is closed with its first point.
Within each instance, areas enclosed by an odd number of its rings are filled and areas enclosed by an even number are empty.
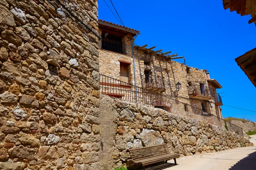
{"type": "Polygon", "coordinates": [[[137,31],[135,29],[131,29],[128,27],[120,26],[115,23],[110,23],[108,21],[104,20],[98,20],[99,28],[103,29],[104,31],[108,31],[113,34],[119,34],[120,36],[125,35],[132,35],[133,37],[136,35],[140,35],[140,31],[137,31]]]}

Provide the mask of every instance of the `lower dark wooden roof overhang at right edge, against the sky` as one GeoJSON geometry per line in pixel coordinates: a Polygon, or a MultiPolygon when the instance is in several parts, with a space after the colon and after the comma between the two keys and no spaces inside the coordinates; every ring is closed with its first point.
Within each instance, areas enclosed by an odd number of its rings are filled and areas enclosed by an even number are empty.
{"type": "Polygon", "coordinates": [[[256,48],[237,57],[235,61],[256,87],[256,48]]]}

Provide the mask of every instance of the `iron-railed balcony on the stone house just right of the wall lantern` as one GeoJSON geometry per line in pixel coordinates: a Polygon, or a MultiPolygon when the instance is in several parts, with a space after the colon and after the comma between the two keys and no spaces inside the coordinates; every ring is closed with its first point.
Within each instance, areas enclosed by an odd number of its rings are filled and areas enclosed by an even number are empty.
{"type": "Polygon", "coordinates": [[[190,99],[209,100],[213,99],[215,92],[212,88],[202,87],[200,85],[192,85],[188,87],[190,99]]]}

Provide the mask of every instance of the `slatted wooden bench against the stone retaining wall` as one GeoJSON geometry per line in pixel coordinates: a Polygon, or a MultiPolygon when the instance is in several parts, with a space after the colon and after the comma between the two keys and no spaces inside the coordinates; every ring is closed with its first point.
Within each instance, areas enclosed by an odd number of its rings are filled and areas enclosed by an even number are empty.
{"type": "Polygon", "coordinates": [[[170,159],[174,159],[175,165],[177,165],[176,158],[180,156],[178,153],[170,153],[167,144],[129,149],[129,152],[132,161],[143,166],[143,170],[145,170],[146,165],[162,161],[167,163],[170,159]]]}

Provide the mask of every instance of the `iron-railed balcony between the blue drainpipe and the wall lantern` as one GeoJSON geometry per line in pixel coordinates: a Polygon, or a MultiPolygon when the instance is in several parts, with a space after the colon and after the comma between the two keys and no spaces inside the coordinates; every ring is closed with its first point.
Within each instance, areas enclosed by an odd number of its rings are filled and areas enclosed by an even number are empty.
{"type": "Polygon", "coordinates": [[[165,91],[165,84],[163,77],[151,76],[150,74],[143,74],[141,76],[142,82],[141,85],[143,88],[150,91],[165,91]]]}

